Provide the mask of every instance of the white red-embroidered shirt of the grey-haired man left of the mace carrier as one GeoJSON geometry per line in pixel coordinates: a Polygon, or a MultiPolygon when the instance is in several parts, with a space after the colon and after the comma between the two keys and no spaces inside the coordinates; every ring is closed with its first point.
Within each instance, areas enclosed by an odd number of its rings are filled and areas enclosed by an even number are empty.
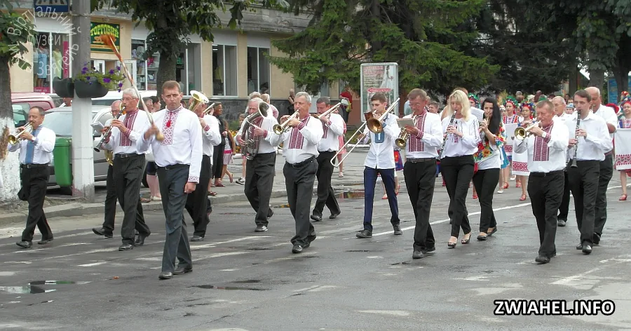
{"type": "MultiPolygon", "coordinates": [[[[147,152],[141,152],[137,149],[137,141],[140,140],[140,137],[142,137],[144,132],[151,126],[147,112],[142,110],[128,112],[121,116],[119,120],[128,128],[127,133],[121,133],[121,130],[112,127],[109,142],[105,143],[103,148],[113,151],[114,155],[147,154],[147,152]]],[[[108,121],[111,126],[111,120],[108,121]]]]}

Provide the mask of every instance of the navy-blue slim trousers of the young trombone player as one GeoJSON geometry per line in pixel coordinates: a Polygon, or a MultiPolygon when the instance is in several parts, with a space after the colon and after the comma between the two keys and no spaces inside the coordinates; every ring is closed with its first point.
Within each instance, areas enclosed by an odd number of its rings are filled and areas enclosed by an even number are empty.
{"type": "Polygon", "coordinates": [[[374,169],[364,168],[364,229],[372,231],[372,205],[374,203],[374,186],[376,184],[377,174],[381,175],[381,180],[384,181],[386,187],[386,194],[388,194],[388,204],[390,204],[390,211],[392,217],[390,222],[393,225],[398,225],[401,221],[399,219],[399,206],[397,203],[397,194],[395,192],[394,181],[394,168],[390,169],[374,169]]]}

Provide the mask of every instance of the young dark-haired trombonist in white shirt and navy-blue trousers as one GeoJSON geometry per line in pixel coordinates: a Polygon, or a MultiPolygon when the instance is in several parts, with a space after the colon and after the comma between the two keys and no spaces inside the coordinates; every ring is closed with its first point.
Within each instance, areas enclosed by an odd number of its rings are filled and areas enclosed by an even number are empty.
{"type": "MultiPolygon", "coordinates": [[[[388,104],[386,95],[381,92],[375,93],[370,98],[370,104],[374,112],[373,116],[379,119],[386,112],[388,104]]],[[[395,193],[393,149],[394,140],[399,136],[401,130],[397,125],[397,116],[393,114],[386,115],[381,125],[384,128],[381,133],[372,133],[368,128],[363,133],[365,136],[369,134],[370,149],[364,162],[364,229],[355,234],[357,238],[372,238],[372,207],[377,174],[381,175],[381,180],[386,187],[386,194],[388,194],[388,204],[392,212],[390,222],[394,229],[394,234],[403,234],[400,227],[397,194],[395,193]]]]}

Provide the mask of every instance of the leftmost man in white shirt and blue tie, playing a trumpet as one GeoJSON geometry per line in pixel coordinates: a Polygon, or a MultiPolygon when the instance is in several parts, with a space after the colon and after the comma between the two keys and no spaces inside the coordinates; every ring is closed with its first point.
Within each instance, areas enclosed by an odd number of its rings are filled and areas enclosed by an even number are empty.
{"type": "Polygon", "coordinates": [[[41,233],[40,245],[53,241],[53,231],[50,231],[46,215],[43,212],[43,201],[46,198],[46,187],[48,187],[48,163],[50,155],[55,147],[55,133],[49,128],[41,126],[44,119],[44,110],[41,107],[29,109],[29,123],[32,130],[25,131],[24,127],[18,128],[18,138],[21,141],[15,144],[8,144],[8,151],[20,150],[20,181],[22,188],[18,197],[22,201],[29,202],[29,215],[27,224],[22,231],[22,241],[17,245],[21,248],[29,248],[33,245],[33,235],[35,227],[41,233]]]}

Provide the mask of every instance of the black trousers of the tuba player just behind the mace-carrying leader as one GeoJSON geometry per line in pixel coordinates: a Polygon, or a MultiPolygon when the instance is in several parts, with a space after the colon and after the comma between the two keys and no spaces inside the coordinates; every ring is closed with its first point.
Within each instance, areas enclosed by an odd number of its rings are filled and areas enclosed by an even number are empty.
{"type": "Polygon", "coordinates": [[[205,236],[206,228],[210,220],[208,219],[208,181],[210,180],[210,156],[202,156],[201,171],[199,173],[199,183],[195,187],[193,193],[186,196],[186,211],[193,219],[195,231],[194,236],[205,236]]]}

